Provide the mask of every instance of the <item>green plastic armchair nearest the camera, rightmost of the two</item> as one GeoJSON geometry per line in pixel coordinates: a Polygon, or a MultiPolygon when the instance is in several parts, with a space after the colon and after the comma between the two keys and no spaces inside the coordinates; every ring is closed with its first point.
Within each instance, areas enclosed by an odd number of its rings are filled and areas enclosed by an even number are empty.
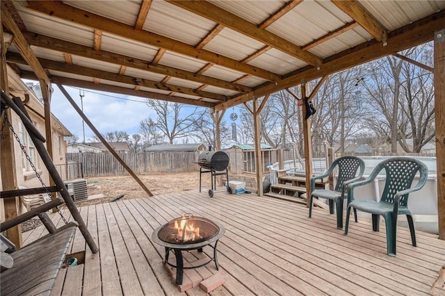
{"type": "Polygon", "coordinates": [[[345,234],[348,234],[350,209],[357,209],[372,214],[373,231],[379,231],[380,215],[385,218],[387,229],[387,253],[396,256],[396,231],[397,216],[406,215],[410,226],[412,245],[416,247],[416,233],[412,214],[408,209],[408,195],[410,192],[420,190],[428,178],[428,167],[421,161],[409,157],[389,158],[379,163],[364,181],[359,181],[348,186],[348,212],[346,214],[345,234]],[[373,200],[355,200],[354,188],[371,183],[379,172],[385,170],[385,189],[382,192],[380,202],[373,200]],[[411,187],[414,176],[419,172],[419,182],[411,187]]]}

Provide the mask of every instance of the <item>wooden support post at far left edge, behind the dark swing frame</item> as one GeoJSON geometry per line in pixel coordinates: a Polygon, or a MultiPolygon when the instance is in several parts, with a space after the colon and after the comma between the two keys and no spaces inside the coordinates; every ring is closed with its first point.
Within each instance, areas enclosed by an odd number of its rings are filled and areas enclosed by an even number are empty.
{"type": "MultiPolygon", "coordinates": [[[[3,18],[1,21],[3,21],[3,18]]],[[[3,25],[0,21],[0,85],[1,90],[4,90],[8,94],[8,71],[6,66],[6,46],[3,40],[3,25]]],[[[11,110],[5,110],[9,120],[11,120],[11,110]]],[[[3,126],[3,120],[5,118],[2,115],[1,124],[3,126]]],[[[14,154],[14,138],[13,133],[10,132],[9,126],[6,124],[3,127],[0,139],[0,161],[1,161],[1,186],[3,190],[17,189],[17,174],[15,171],[15,154],[14,154]]],[[[5,209],[5,219],[10,220],[17,217],[19,213],[19,199],[17,197],[11,197],[3,200],[3,206],[5,209]]],[[[6,236],[17,247],[22,247],[22,228],[20,224],[8,229],[6,236]]]]}

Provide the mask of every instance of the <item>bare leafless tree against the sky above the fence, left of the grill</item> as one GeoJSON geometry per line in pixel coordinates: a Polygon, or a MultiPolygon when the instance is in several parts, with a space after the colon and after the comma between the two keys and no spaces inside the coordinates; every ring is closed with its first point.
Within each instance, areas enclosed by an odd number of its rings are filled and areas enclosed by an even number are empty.
{"type": "Polygon", "coordinates": [[[147,99],[147,106],[152,108],[158,118],[152,121],[153,126],[161,131],[170,144],[173,144],[175,139],[186,138],[190,135],[197,108],[191,113],[182,112],[182,104],[172,103],[169,101],[160,101],[155,99],[147,99]]]}

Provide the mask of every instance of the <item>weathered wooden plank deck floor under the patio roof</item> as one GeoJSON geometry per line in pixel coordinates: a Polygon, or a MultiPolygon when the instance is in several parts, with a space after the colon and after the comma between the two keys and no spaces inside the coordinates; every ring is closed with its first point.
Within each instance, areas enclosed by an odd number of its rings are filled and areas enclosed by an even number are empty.
{"type": "MultiPolygon", "coordinates": [[[[226,228],[218,243],[226,282],[211,295],[445,295],[439,278],[445,241],[418,231],[412,247],[409,231],[399,228],[393,258],[386,254],[385,227],[373,233],[369,222],[352,222],[345,236],[335,215],[321,208],[309,219],[307,208],[293,202],[223,191],[209,198],[206,190],[192,190],[80,212],[99,253],[86,248],[78,230],[69,253],[86,250],[85,263],[62,270],[54,295],[204,295],[199,286],[179,292],[163,267],[163,247],[151,240],[156,227],[184,213],[226,228]]],[[[59,215],[51,218],[63,223],[59,215]]],[[[43,227],[28,231],[24,242],[44,233],[43,227]]]]}

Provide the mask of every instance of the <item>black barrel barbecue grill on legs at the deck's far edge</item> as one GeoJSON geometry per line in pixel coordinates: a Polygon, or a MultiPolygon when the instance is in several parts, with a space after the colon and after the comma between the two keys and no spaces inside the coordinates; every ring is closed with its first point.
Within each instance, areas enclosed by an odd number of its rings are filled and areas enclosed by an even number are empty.
{"type": "MultiPolygon", "coordinates": [[[[200,192],[202,174],[211,174],[209,197],[213,197],[213,190],[216,189],[216,176],[225,174],[227,182],[229,182],[229,171],[227,170],[227,167],[229,166],[229,156],[224,151],[202,152],[197,158],[197,164],[200,165],[200,192]]],[[[229,188],[229,186],[227,186],[227,188],[229,188]]]]}

